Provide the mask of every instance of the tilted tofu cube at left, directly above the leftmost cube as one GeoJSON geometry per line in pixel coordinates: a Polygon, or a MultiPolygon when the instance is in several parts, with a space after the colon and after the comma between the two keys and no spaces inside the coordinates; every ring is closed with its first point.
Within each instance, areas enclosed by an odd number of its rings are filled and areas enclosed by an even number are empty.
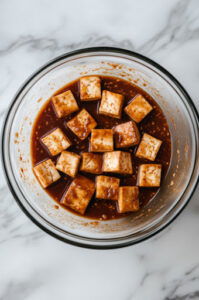
{"type": "Polygon", "coordinates": [[[57,155],[70,147],[71,142],[60,128],[57,128],[41,138],[51,155],[57,155]]]}

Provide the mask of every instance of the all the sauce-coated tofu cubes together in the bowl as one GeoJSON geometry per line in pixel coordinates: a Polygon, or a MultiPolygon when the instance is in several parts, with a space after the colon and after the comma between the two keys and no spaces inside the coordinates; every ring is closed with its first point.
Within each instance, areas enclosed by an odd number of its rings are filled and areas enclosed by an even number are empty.
{"type": "MultiPolygon", "coordinates": [[[[124,104],[121,94],[107,90],[101,91],[100,77],[86,76],[80,78],[80,100],[95,101],[101,99],[98,113],[120,119],[124,104]]],[[[52,97],[55,113],[59,118],[79,111],[74,95],[70,90],[52,97]]],[[[117,201],[120,213],[139,209],[139,187],[159,187],[161,165],[155,163],[141,164],[138,169],[137,186],[120,186],[120,179],[115,174],[133,174],[132,155],[128,148],[138,145],[135,156],[154,161],[162,141],[144,133],[140,141],[140,133],[136,123],[141,122],[153,107],[142,95],[136,95],[124,108],[130,121],[110,129],[97,129],[97,122],[86,109],[77,112],[67,122],[68,128],[80,140],[90,137],[90,152],[79,154],[66,151],[71,141],[66,134],[56,128],[41,138],[44,148],[52,156],[58,154],[56,165],[47,159],[34,167],[34,172],[41,185],[46,188],[61,176],[60,172],[73,178],[72,183],[61,199],[61,203],[74,211],[84,214],[95,193],[97,199],[117,201]],[[123,150],[125,151],[123,151],[123,150]],[[95,174],[95,182],[78,171],[95,174]],[[103,173],[106,175],[103,175],[103,173]],[[111,173],[110,176],[107,174],[111,173]]]]}

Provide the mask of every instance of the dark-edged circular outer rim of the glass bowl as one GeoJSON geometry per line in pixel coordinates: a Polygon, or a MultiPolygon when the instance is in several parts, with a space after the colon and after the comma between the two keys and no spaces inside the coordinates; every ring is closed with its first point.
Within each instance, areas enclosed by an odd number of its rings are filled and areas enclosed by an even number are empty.
{"type": "Polygon", "coordinates": [[[15,192],[15,189],[12,186],[12,183],[11,183],[11,180],[9,178],[8,172],[7,172],[7,167],[6,167],[6,162],[5,162],[5,153],[4,153],[4,139],[5,139],[5,131],[6,131],[6,126],[7,126],[8,118],[10,116],[12,108],[13,108],[15,102],[17,101],[19,95],[22,93],[22,91],[24,90],[24,88],[39,73],[41,73],[46,68],[50,67],[51,65],[55,64],[56,62],[58,62],[58,61],[60,61],[62,59],[70,58],[71,56],[74,56],[74,55],[89,54],[91,52],[95,52],[95,53],[99,53],[99,52],[112,52],[112,53],[119,53],[119,54],[129,55],[131,57],[138,58],[138,59],[140,59],[140,60],[148,63],[149,65],[152,65],[157,70],[159,70],[160,72],[162,72],[165,76],[167,76],[178,87],[178,89],[181,91],[181,93],[186,98],[187,103],[188,103],[189,107],[191,108],[193,114],[195,115],[196,123],[199,123],[199,113],[198,113],[198,111],[196,109],[196,106],[195,106],[193,100],[189,96],[188,92],[185,90],[185,88],[182,86],[182,84],[169,71],[167,71],[164,67],[162,67],[160,64],[158,64],[154,60],[152,60],[152,59],[150,59],[150,58],[148,58],[148,57],[146,57],[146,56],[144,56],[144,55],[142,55],[140,53],[134,52],[132,50],[118,48],[118,47],[105,47],[105,46],[101,46],[100,47],[100,46],[97,46],[97,47],[80,48],[80,49],[77,49],[77,50],[66,52],[66,53],[64,53],[62,55],[57,56],[54,59],[51,59],[46,64],[42,65],[35,72],[33,72],[27,78],[27,80],[24,81],[22,83],[22,85],[19,87],[18,91],[16,92],[16,94],[12,98],[11,104],[8,107],[7,113],[6,113],[5,117],[4,117],[4,121],[3,121],[3,125],[2,125],[2,130],[1,130],[1,141],[2,141],[2,143],[1,143],[1,162],[2,162],[2,166],[3,166],[3,172],[4,172],[4,175],[5,175],[5,178],[6,178],[6,182],[8,184],[8,187],[9,187],[9,189],[11,191],[12,196],[14,197],[14,199],[16,200],[17,204],[22,209],[22,211],[26,214],[26,216],[35,225],[37,225],[40,229],[42,229],[47,234],[49,234],[49,235],[57,238],[58,240],[61,240],[61,241],[65,242],[65,243],[68,243],[68,244],[71,244],[71,245],[74,245],[74,246],[79,246],[79,247],[89,248],[89,249],[108,250],[108,249],[123,248],[123,247],[131,246],[131,245],[135,245],[137,243],[140,243],[142,241],[145,241],[145,240],[147,240],[147,239],[155,236],[156,234],[160,233],[163,229],[165,229],[167,226],[169,226],[179,216],[179,214],[184,210],[184,208],[187,206],[187,204],[191,200],[192,195],[193,195],[193,193],[195,192],[195,190],[196,190],[196,188],[198,186],[199,177],[197,178],[197,180],[195,182],[195,185],[193,186],[192,191],[190,192],[189,197],[187,198],[186,202],[182,205],[182,207],[179,209],[179,211],[176,214],[174,214],[171,217],[171,219],[169,221],[167,221],[159,229],[156,229],[154,232],[152,232],[152,233],[148,234],[147,236],[142,237],[142,238],[140,238],[139,240],[136,240],[136,241],[127,241],[127,242],[122,242],[122,244],[113,244],[113,245],[92,245],[92,244],[85,244],[85,243],[80,242],[80,241],[76,242],[76,241],[68,239],[67,237],[62,237],[62,236],[57,235],[56,233],[54,233],[53,231],[49,230],[47,227],[45,227],[44,225],[42,225],[39,221],[37,221],[31,215],[31,213],[25,208],[25,206],[22,204],[22,202],[18,198],[18,196],[17,196],[17,194],[15,192]]]}

